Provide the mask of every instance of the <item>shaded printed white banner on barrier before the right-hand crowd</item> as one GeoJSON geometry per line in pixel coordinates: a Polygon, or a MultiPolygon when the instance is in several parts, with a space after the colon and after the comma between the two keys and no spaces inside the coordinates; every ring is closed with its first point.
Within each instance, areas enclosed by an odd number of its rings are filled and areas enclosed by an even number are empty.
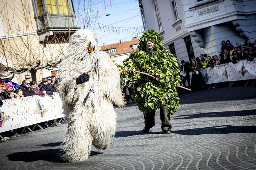
{"type": "Polygon", "coordinates": [[[250,80],[256,78],[256,60],[240,60],[236,64],[217,65],[213,68],[201,69],[205,84],[225,81],[250,80]]]}

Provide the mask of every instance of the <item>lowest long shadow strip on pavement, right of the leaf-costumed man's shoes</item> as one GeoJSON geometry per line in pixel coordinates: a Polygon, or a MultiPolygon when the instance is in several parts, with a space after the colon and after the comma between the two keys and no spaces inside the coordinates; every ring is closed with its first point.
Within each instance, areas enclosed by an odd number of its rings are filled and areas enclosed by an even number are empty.
{"type": "Polygon", "coordinates": [[[256,133],[256,126],[212,126],[197,129],[182,129],[172,131],[175,134],[181,135],[202,135],[202,134],[230,134],[230,133],[256,133]]]}

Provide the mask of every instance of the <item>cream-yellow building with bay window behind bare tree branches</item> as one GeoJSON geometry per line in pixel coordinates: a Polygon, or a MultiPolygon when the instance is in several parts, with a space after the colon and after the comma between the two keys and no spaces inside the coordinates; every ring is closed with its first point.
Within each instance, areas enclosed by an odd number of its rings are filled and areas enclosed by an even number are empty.
{"type": "Polygon", "coordinates": [[[37,81],[50,76],[45,68],[56,66],[78,29],[72,1],[2,0],[0,8],[0,71],[16,71],[19,84],[26,74],[37,81]]]}

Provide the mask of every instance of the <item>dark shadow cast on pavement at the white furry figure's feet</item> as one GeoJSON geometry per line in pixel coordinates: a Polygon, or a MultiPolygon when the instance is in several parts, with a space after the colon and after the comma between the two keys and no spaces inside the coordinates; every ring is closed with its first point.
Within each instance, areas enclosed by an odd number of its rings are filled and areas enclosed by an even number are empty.
{"type": "MultiPolygon", "coordinates": [[[[91,151],[90,156],[102,154],[101,152],[91,151]]],[[[32,152],[17,152],[7,155],[10,161],[49,161],[49,162],[61,162],[65,161],[61,159],[63,155],[63,149],[46,149],[36,150],[32,152]]]]}

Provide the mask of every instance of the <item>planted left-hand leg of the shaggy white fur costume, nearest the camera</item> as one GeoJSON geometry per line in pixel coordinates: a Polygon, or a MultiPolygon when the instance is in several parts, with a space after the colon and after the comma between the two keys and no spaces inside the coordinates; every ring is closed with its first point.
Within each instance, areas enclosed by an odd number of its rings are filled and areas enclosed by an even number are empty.
{"type": "Polygon", "coordinates": [[[69,120],[67,123],[67,134],[65,138],[64,159],[68,162],[85,161],[88,159],[91,151],[91,133],[89,123],[85,114],[76,120],[69,120]]]}

